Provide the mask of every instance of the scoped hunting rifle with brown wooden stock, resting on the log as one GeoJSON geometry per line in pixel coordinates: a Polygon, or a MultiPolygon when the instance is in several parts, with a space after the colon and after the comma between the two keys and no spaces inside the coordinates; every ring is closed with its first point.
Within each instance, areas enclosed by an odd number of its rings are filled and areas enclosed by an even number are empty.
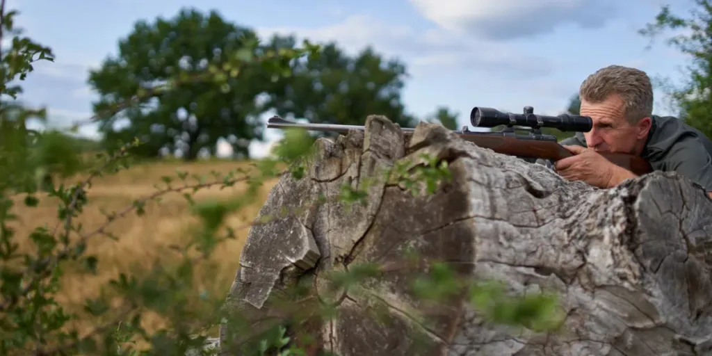
{"type": "MultiPolygon", "coordinates": [[[[558,161],[573,154],[557,142],[553,135],[545,135],[542,127],[552,127],[562,132],[588,132],[593,128],[591,117],[562,114],[558,116],[535,115],[534,108],[526,106],[522,114],[501,112],[493,108],[475,107],[470,112],[470,122],[474,127],[496,127],[504,125],[499,131],[477,132],[467,126],[455,130],[463,140],[473,142],[479,147],[488,148],[494,152],[517,157],[550,159],[558,161]],[[525,135],[516,130],[527,131],[525,135]]],[[[364,126],[332,125],[332,124],[302,124],[273,116],[267,120],[268,128],[300,128],[310,131],[338,132],[346,134],[349,130],[365,130],[364,126]]],[[[413,132],[415,129],[403,127],[403,132],[413,132]]],[[[650,164],[642,157],[624,153],[599,152],[609,162],[628,169],[637,175],[652,171],[650,164]]]]}

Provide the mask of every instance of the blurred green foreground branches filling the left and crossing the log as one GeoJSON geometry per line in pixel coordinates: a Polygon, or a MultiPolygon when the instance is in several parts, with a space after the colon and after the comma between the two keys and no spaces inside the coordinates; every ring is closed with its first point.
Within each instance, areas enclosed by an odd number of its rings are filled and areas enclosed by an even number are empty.
{"type": "MultiPolygon", "coordinates": [[[[135,139],[115,152],[99,155],[98,163],[91,168],[77,164],[71,157],[53,157],[51,154],[58,152],[70,156],[63,150],[66,145],[52,141],[51,132],[28,130],[28,119],[33,116],[42,119],[46,112],[19,105],[15,99],[16,94],[21,93],[21,86],[10,85],[15,78],[24,80],[33,70],[32,63],[53,61],[51,48],[21,37],[21,31],[14,28],[16,11],[5,13],[4,0],[0,1],[0,39],[14,36],[11,48],[0,51],[3,73],[0,90],[14,100],[0,102],[0,355],[185,355],[200,349],[206,333],[221,323],[242,325],[237,330],[244,335],[253,334],[253,325],[246,323],[248,315],[230,315],[230,320],[225,320],[227,317],[221,308],[223,298],[212,298],[209,293],[197,290],[197,268],[204,266],[210,271],[211,264],[217,263],[211,259],[214,251],[220,244],[235,238],[235,229],[221,235],[219,228],[226,225],[229,214],[253,203],[265,182],[285,174],[292,179],[308,177],[315,160],[313,137],[305,132],[286,132],[285,139],[273,150],[273,157],[255,162],[248,170],[192,177],[196,182],[189,182],[187,172],[176,172],[176,177],[164,176],[155,192],[133,200],[123,209],[104,213],[104,221],[85,231],[80,218],[91,207],[95,181],[130,169],[131,150],[145,142],[135,139]],[[80,182],[68,186],[56,187],[48,182],[45,192],[38,192],[38,176],[49,169],[50,162],[56,169],[65,169],[66,175],[70,172],[86,175],[80,182]],[[283,168],[285,166],[287,168],[283,168]],[[225,189],[238,183],[243,184],[246,191],[229,201],[199,203],[195,199],[195,194],[203,189],[225,189]],[[179,258],[156,258],[145,261],[150,264],[149,268],[137,263],[133,271],[120,271],[101,284],[98,295],[86,298],[80,310],[63,302],[60,295],[68,288],[63,278],[69,272],[87,277],[98,274],[99,258],[90,253],[93,238],[122,239],[110,234],[110,227],[130,214],[150,219],[145,215],[151,209],[150,204],[159,203],[167,194],[182,195],[194,216],[199,218],[200,229],[189,231],[189,241],[169,246],[169,251],[179,258]],[[49,228],[50,221],[40,221],[26,236],[16,236],[16,226],[12,223],[19,219],[16,201],[20,198],[26,209],[38,209],[41,199],[58,199],[58,220],[53,229],[49,228]],[[21,246],[22,241],[28,243],[21,246]],[[147,326],[147,315],[157,315],[163,324],[147,326]],[[89,323],[91,327],[82,330],[77,326],[80,323],[89,323]]],[[[263,48],[256,41],[247,42],[239,51],[231,53],[229,61],[211,63],[202,73],[180,71],[167,83],[138,88],[126,100],[116,98],[116,103],[106,105],[97,115],[76,122],[75,126],[94,122],[104,115],[117,115],[121,110],[181,85],[200,81],[223,85],[227,80],[239,80],[247,66],[258,65],[276,77],[288,77],[293,69],[290,63],[304,56],[309,60],[319,55],[319,46],[308,41],[303,48],[281,49],[263,48]]],[[[451,172],[447,162],[421,155],[384,169],[382,174],[375,174],[374,179],[384,179],[387,184],[412,194],[433,194],[448,184],[451,172]]],[[[373,183],[364,179],[357,187],[344,184],[329,197],[312,197],[308,204],[284,209],[273,216],[263,215],[237,229],[301,216],[313,209],[313,204],[367,204],[373,183]]],[[[382,278],[384,273],[396,269],[422,270],[424,266],[428,267],[428,273],[415,276],[411,281],[414,295],[424,300],[446,303],[452,295],[467,295],[471,305],[483,310],[495,323],[524,325],[533,330],[550,330],[555,326],[552,316],[555,298],[548,295],[509,298],[502,288],[474,286],[472,281],[456,276],[444,261],[409,256],[407,261],[383,265],[351,264],[348,271],[330,273],[326,278],[333,290],[348,289],[366,295],[365,289],[360,287],[363,283],[382,278]]],[[[239,345],[225,347],[236,346],[236,350],[244,350],[244,355],[305,355],[299,330],[313,318],[333,317],[335,310],[316,303],[303,283],[285,292],[273,300],[280,308],[275,309],[275,315],[268,315],[271,320],[260,320],[273,323],[273,328],[251,335],[239,345]]],[[[374,303],[379,301],[374,299],[374,303]]]]}

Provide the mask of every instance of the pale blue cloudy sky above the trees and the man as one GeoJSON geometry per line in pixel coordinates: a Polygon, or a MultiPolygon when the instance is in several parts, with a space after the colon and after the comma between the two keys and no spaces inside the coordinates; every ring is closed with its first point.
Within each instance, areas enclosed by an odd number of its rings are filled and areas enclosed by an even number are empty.
{"type": "MultiPolygon", "coordinates": [[[[38,63],[23,83],[29,105],[46,105],[53,125],[92,116],[98,96],[86,84],[90,68],[117,53],[117,41],[135,21],[170,18],[186,6],[219,11],[224,19],[267,38],[293,33],[311,41],[337,41],[349,53],[373,46],[399,58],[409,78],[407,110],[426,117],[443,105],[469,124],[474,106],[536,113],[565,110],[587,75],[618,64],[651,77],[680,80],[686,57],[663,41],[648,48],[637,33],[654,20],[664,0],[8,0],[16,26],[50,46],[54,63],[38,63]]],[[[689,10],[691,1],[674,1],[689,10]]],[[[670,114],[656,90],[654,113],[670,114]]],[[[251,156],[263,157],[281,135],[266,130],[251,156]]],[[[93,125],[83,135],[97,137],[93,125]]]]}

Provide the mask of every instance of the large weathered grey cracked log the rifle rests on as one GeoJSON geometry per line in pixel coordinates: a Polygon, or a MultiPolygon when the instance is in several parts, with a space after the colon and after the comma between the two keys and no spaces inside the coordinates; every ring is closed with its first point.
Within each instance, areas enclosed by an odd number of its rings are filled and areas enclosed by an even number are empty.
{"type": "MultiPolygon", "coordinates": [[[[315,303],[336,303],[339,313],[300,332],[337,355],[712,355],[712,202],[683,177],[654,172],[595,189],[438,125],[404,137],[380,116],[368,117],[365,132],[316,145],[307,176],[283,176],[260,214],[302,211],[253,227],[226,300],[226,310],[251,315],[254,330],[278,317],[268,297],[314,276],[315,303]],[[449,162],[451,182],[436,194],[416,197],[376,179],[365,206],[315,204],[421,153],[449,162]],[[464,299],[422,308],[397,268],[365,286],[371,299],[323,293],[326,271],[387,265],[408,249],[462,276],[503,281],[511,293],[555,291],[564,325],[550,335],[489,325],[464,299]],[[392,318],[370,315],[372,298],[392,318]],[[417,310],[433,323],[414,320],[417,310]],[[431,340],[426,349],[417,332],[431,340]]],[[[221,328],[222,345],[234,340],[230,329],[221,328]]]]}

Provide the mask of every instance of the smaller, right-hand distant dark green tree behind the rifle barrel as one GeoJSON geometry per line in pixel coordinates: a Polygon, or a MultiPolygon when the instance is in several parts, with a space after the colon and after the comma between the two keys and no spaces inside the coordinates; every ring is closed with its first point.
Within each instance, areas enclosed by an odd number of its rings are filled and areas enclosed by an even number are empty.
{"type": "MultiPolygon", "coordinates": [[[[268,46],[290,48],[293,36],[274,36],[268,46]]],[[[402,127],[414,118],[404,112],[401,90],[407,76],[403,63],[386,61],[372,48],[347,56],[336,43],[322,47],[318,58],[293,64],[294,75],[271,85],[266,108],[310,122],[363,125],[367,115],[385,115],[402,127]]]]}

